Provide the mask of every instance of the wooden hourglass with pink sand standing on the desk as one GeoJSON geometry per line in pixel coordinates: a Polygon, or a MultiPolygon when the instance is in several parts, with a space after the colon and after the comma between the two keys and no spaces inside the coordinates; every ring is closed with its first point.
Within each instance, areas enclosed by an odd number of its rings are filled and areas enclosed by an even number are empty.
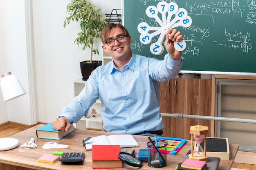
{"type": "Polygon", "coordinates": [[[195,160],[201,160],[201,161],[207,161],[208,157],[206,156],[206,135],[208,133],[208,127],[207,126],[190,126],[191,134],[191,154],[189,154],[189,159],[195,159],[195,160]],[[204,149],[202,146],[200,146],[200,143],[204,139],[204,149]],[[197,145],[194,146],[194,142],[197,142],[197,145]]]}

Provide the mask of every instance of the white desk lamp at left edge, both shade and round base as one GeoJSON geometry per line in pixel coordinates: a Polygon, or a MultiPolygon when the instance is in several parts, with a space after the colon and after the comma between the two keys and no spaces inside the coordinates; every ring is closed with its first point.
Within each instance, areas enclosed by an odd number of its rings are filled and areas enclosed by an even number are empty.
{"type": "MultiPolygon", "coordinates": [[[[11,74],[11,72],[2,74],[0,77],[0,87],[2,90],[4,102],[26,94],[18,78],[11,74]]],[[[17,139],[10,137],[0,138],[0,151],[10,150],[16,148],[18,145],[19,141],[17,139]]]]}

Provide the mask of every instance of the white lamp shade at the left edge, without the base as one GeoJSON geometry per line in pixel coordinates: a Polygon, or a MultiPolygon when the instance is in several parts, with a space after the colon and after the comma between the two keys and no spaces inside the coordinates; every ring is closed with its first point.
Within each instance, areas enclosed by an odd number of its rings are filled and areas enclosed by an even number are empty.
{"type": "Polygon", "coordinates": [[[11,74],[11,72],[3,74],[0,80],[0,86],[4,102],[26,94],[18,78],[15,75],[11,74]]]}

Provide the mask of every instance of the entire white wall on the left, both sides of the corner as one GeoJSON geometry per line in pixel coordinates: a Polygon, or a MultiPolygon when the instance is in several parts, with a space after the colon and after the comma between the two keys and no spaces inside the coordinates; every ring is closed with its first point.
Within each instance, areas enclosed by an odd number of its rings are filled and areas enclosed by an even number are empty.
{"type": "MultiPolygon", "coordinates": [[[[0,72],[10,71],[15,73],[24,86],[27,94],[9,102],[0,99],[0,123],[7,120],[23,124],[34,124],[31,117],[31,96],[29,90],[35,89],[36,121],[50,122],[54,120],[61,109],[74,97],[73,81],[82,78],[79,62],[88,60],[89,49],[82,51],[74,44],[74,39],[79,31],[78,23],[71,23],[63,27],[66,6],[70,0],[25,0],[32,4],[32,28],[34,33],[34,84],[29,87],[26,32],[25,32],[25,3],[20,0],[0,1],[0,45],[6,44],[7,48],[0,49],[0,72]],[[15,4],[15,5],[13,5],[15,4]],[[2,11],[5,9],[5,11],[2,11]],[[11,16],[11,14],[16,14],[11,16]],[[15,26],[11,25],[15,24],[15,26]],[[18,26],[17,26],[18,25],[18,26]],[[4,26],[4,28],[2,28],[4,26]],[[4,31],[2,30],[4,29],[4,31]],[[15,35],[13,35],[15,33],[15,35]],[[4,36],[5,35],[5,36],[4,36]],[[2,37],[4,37],[2,39],[2,37]],[[19,41],[18,41],[19,40],[19,41]],[[13,50],[15,47],[15,50],[13,50]],[[6,54],[10,54],[7,55],[6,54]],[[14,59],[18,59],[17,62],[14,59]],[[7,105],[7,106],[6,106],[7,105]],[[11,105],[8,107],[8,105],[11,105]],[[2,109],[3,108],[3,109],[2,109]],[[7,113],[6,113],[7,111],[7,113]],[[2,113],[4,112],[4,113],[2,113]],[[2,116],[1,116],[2,115],[2,116]],[[25,117],[23,117],[26,115],[25,117]],[[28,117],[27,117],[28,116],[28,117]],[[8,117],[8,118],[7,118],[8,117]]],[[[120,0],[88,0],[101,9],[101,14],[110,13],[112,9],[121,9],[120,0]]],[[[95,46],[101,49],[101,42],[95,46]]],[[[1,48],[1,47],[0,47],[1,48]]],[[[101,60],[101,53],[94,57],[101,60]]]]}

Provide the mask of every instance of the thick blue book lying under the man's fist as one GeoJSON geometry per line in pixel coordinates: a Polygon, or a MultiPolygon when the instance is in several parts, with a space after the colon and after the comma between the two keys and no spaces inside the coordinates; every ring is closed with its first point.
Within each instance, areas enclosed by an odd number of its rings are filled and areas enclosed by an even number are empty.
{"type": "Polygon", "coordinates": [[[41,139],[53,139],[53,140],[61,140],[63,137],[69,135],[74,131],[73,123],[71,123],[70,130],[67,132],[56,131],[52,128],[51,122],[45,124],[44,126],[38,128],[36,130],[36,136],[41,139]]]}

